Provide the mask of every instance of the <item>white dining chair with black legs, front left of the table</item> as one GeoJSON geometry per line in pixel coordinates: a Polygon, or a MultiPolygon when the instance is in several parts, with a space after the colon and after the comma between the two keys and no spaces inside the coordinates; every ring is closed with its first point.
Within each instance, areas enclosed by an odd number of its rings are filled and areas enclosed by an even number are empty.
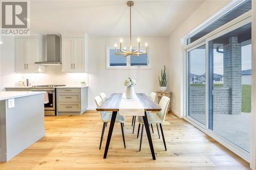
{"type": "MultiPolygon", "coordinates": [[[[99,95],[97,95],[94,98],[94,101],[95,101],[97,107],[100,107],[104,103],[99,95]]],[[[101,143],[102,143],[102,140],[103,140],[103,136],[104,136],[105,127],[106,127],[106,124],[111,122],[112,113],[111,112],[105,112],[105,111],[100,111],[99,113],[100,113],[101,121],[103,122],[103,127],[102,127],[102,132],[101,132],[101,137],[100,137],[100,144],[99,144],[99,149],[100,149],[101,148],[101,143]]],[[[124,131],[123,131],[123,126],[124,126],[123,124],[125,122],[125,117],[120,115],[119,112],[117,112],[117,115],[116,115],[116,122],[120,123],[120,125],[121,125],[122,136],[123,136],[123,145],[124,145],[124,148],[126,148],[125,147],[124,131]]]]}

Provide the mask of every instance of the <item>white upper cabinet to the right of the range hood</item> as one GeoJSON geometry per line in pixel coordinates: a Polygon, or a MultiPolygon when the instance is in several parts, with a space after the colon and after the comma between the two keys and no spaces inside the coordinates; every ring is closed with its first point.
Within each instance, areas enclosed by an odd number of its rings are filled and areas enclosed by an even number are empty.
{"type": "Polygon", "coordinates": [[[62,35],[62,72],[88,72],[87,35],[62,35]]]}

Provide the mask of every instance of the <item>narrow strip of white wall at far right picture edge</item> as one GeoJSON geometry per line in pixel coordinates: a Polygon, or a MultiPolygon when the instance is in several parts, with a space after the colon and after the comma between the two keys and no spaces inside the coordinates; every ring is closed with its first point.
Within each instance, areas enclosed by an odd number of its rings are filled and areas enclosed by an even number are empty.
{"type": "Polygon", "coordinates": [[[256,170],[256,2],[252,1],[252,112],[251,112],[251,161],[250,167],[256,170]]]}

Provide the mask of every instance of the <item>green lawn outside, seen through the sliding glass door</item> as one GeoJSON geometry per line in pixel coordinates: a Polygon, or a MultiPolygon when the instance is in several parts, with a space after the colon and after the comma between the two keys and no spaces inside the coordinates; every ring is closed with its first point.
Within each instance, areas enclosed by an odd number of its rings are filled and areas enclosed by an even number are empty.
{"type": "MultiPolygon", "coordinates": [[[[204,87],[205,84],[190,84],[193,87],[204,87]]],[[[223,87],[223,84],[214,84],[214,87],[223,87]]],[[[242,112],[251,112],[251,85],[242,85],[242,112]]]]}

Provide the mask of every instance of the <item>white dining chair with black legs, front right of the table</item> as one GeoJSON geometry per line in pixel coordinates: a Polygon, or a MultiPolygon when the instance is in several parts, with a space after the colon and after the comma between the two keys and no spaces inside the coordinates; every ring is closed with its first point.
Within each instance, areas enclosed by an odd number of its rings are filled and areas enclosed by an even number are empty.
{"type": "MultiPolygon", "coordinates": [[[[142,116],[138,116],[139,128],[138,128],[137,138],[139,136],[140,124],[142,124],[141,137],[140,137],[140,150],[141,150],[141,145],[142,145],[144,126],[149,126],[150,124],[156,124],[157,129],[158,129],[158,124],[159,124],[160,129],[161,129],[161,133],[162,133],[164,148],[165,148],[165,151],[167,151],[166,144],[165,144],[165,139],[164,139],[164,134],[163,134],[162,123],[164,122],[169,102],[170,102],[170,98],[167,98],[166,96],[163,96],[161,98],[161,101],[159,102],[159,106],[161,108],[161,111],[158,111],[158,112],[152,113],[152,114],[147,114],[148,125],[144,125],[142,116]]],[[[159,132],[158,132],[158,134],[159,134],[159,132]]]]}

